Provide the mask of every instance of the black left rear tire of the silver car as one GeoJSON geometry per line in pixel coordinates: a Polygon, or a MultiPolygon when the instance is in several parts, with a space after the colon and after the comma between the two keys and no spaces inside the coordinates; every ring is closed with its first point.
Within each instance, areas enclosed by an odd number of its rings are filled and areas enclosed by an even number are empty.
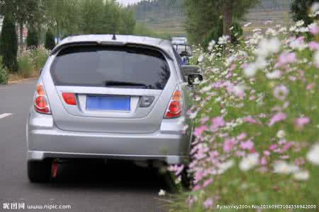
{"type": "Polygon", "coordinates": [[[51,176],[50,160],[29,160],[28,178],[30,182],[48,182],[51,176]]]}

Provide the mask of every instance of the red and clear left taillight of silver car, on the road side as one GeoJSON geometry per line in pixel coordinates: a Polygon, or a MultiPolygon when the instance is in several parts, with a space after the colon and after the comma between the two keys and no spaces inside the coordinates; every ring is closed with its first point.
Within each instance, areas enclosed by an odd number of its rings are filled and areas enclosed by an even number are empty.
{"type": "Polygon", "coordinates": [[[36,112],[50,114],[50,105],[47,101],[47,95],[43,88],[42,83],[38,83],[35,91],[35,99],[33,101],[34,109],[36,112]]]}

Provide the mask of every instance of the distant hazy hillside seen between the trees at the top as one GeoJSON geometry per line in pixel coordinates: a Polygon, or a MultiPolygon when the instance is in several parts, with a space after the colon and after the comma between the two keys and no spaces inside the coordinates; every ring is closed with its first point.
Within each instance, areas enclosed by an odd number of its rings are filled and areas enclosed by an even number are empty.
{"type": "MultiPolygon", "coordinates": [[[[174,5],[169,5],[167,0],[140,1],[131,7],[135,8],[138,23],[145,23],[158,33],[185,35],[182,1],[177,0],[174,5]]],[[[272,25],[286,25],[291,22],[290,4],[291,0],[262,0],[247,13],[242,23],[251,22],[250,28],[263,28],[266,20],[272,20],[272,25]]]]}

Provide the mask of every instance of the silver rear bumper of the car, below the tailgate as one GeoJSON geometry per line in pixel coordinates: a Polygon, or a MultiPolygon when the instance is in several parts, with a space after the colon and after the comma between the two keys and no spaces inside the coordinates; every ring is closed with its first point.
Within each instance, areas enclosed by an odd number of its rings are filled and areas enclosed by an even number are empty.
{"type": "Polygon", "coordinates": [[[29,117],[28,160],[116,158],[163,160],[176,164],[188,158],[188,136],[181,133],[179,126],[173,127],[172,121],[152,134],[110,134],[64,131],[58,129],[53,120],[50,123],[47,119],[50,119],[50,116],[40,115],[32,120],[29,117]]]}

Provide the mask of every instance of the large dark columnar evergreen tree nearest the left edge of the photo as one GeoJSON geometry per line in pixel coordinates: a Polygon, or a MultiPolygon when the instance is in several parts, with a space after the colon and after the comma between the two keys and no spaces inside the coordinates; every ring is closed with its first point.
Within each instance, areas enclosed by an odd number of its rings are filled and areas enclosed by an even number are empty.
{"type": "Polygon", "coordinates": [[[6,68],[11,71],[18,71],[16,56],[18,53],[18,40],[16,36],[16,25],[13,16],[6,14],[2,23],[0,35],[0,53],[6,68]]]}

